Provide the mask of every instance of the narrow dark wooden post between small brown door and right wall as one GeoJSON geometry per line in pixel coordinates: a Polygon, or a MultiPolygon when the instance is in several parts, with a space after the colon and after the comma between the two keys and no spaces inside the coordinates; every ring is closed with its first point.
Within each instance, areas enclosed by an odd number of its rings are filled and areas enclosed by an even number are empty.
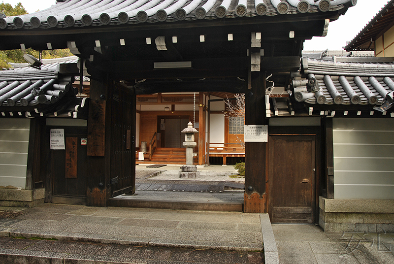
{"type": "Polygon", "coordinates": [[[326,198],[334,198],[334,142],[332,132],[332,118],[325,118],[325,143],[326,143],[326,198]]]}

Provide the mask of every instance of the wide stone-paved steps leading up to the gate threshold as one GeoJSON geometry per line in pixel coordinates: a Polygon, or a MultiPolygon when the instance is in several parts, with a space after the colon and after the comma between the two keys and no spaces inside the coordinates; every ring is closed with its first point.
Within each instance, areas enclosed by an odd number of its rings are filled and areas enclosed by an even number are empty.
{"type": "Polygon", "coordinates": [[[60,204],[0,212],[0,263],[263,263],[259,214],[60,204]]]}

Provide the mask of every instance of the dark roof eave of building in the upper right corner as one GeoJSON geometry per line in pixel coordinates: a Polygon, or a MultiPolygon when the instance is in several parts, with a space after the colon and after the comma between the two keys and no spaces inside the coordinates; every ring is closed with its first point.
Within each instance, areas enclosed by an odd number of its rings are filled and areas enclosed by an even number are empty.
{"type": "MultiPolygon", "coordinates": [[[[389,1],[382,10],[361,30],[361,32],[344,48],[351,50],[375,50],[375,37],[388,26],[392,26],[394,19],[394,0],[389,1]]],[[[386,29],[387,30],[387,29],[386,29]]]]}

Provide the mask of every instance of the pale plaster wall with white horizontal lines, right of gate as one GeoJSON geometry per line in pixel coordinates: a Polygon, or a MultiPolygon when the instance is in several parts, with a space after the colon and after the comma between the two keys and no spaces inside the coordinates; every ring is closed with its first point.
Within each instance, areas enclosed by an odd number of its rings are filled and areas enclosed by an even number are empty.
{"type": "Polygon", "coordinates": [[[394,120],[333,119],[334,198],[394,199],[394,120]]]}

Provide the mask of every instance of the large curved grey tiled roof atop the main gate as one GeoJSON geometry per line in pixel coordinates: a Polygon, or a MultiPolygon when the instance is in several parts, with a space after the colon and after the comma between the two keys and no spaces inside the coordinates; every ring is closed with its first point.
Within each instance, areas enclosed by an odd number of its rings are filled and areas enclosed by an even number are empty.
{"type": "Polygon", "coordinates": [[[357,0],[58,0],[35,13],[0,18],[0,29],[66,28],[336,11],[357,0]]]}

